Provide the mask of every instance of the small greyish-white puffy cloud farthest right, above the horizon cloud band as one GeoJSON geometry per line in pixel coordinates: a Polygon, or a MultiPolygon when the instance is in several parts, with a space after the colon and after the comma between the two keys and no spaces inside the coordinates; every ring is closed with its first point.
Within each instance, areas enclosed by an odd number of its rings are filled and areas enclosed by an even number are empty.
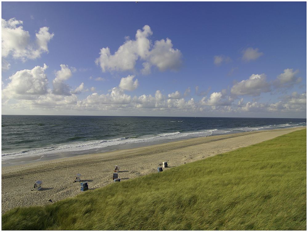
{"type": "Polygon", "coordinates": [[[283,73],[279,74],[274,80],[274,86],[277,88],[292,87],[294,84],[298,84],[302,81],[301,77],[296,77],[299,70],[293,71],[293,68],[287,68],[283,70],[283,73]]]}

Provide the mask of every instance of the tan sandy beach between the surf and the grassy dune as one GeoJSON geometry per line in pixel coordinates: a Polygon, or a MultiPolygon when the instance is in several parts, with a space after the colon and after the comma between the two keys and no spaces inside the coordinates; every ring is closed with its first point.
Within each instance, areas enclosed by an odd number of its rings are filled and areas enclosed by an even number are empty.
{"type": "MultiPolygon", "coordinates": [[[[209,156],[260,143],[305,127],[252,131],[181,140],[148,147],[80,155],[2,168],[2,213],[16,206],[45,205],[73,197],[80,184],[75,175],[87,180],[89,189],[112,183],[115,165],[120,167],[121,181],[157,172],[163,161],[170,168],[209,156]],[[43,181],[40,191],[31,191],[36,180],[43,181]]],[[[166,170],[168,168],[164,168],[166,170]]],[[[91,191],[91,190],[90,190],[91,191]]]]}

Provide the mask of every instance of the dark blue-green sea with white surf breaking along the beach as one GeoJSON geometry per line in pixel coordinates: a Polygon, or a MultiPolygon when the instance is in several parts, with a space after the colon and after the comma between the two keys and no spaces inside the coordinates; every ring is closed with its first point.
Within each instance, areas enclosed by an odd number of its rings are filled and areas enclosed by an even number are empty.
{"type": "Polygon", "coordinates": [[[2,161],[80,155],[201,136],[306,126],[306,118],[2,115],[2,161]]]}

